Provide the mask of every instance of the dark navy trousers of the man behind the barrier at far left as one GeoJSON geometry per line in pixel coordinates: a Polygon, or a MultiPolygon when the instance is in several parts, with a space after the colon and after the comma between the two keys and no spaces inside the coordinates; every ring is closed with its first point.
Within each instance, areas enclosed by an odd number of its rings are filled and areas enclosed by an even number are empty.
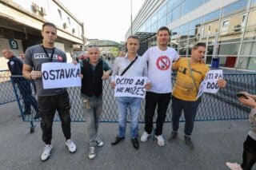
{"type": "Polygon", "coordinates": [[[31,114],[31,105],[34,107],[34,110],[38,112],[38,101],[36,101],[32,96],[30,81],[25,80],[23,77],[15,78],[18,78],[16,83],[24,101],[24,109],[26,114],[31,114]]]}

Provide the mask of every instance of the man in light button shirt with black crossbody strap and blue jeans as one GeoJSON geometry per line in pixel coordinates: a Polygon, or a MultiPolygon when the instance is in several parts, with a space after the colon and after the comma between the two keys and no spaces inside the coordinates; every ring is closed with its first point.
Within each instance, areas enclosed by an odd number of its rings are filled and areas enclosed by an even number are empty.
{"type": "MultiPolygon", "coordinates": [[[[118,57],[114,62],[113,79],[115,75],[124,77],[147,77],[147,65],[143,57],[138,56],[139,38],[131,35],[127,38],[125,57],[118,57]],[[128,67],[130,65],[130,67],[128,67]],[[127,69],[128,68],[128,69],[127,69]]],[[[111,82],[114,88],[114,81],[111,82]]],[[[146,83],[145,88],[150,89],[151,84],[146,83]]],[[[130,108],[130,138],[135,149],[138,149],[138,115],[141,108],[142,98],[139,97],[116,97],[119,113],[118,136],[112,145],[118,144],[126,136],[127,109],[130,108]]]]}

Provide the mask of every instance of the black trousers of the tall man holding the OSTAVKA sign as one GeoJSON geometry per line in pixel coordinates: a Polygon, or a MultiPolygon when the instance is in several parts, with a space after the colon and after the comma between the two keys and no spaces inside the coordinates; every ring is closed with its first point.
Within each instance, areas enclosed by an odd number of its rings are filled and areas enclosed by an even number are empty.
{"type": "Polygon", "coordinates": [[[52,125],[54,121],[54,114],[58,111],[58,116],[62,121],[62,132],[66,140],[70,139],[70,98],[69,94],[64,93],[38,97],[39,114],[41,119],[42,140],[46,144],[50,144],[52,138],[52,125]]]}

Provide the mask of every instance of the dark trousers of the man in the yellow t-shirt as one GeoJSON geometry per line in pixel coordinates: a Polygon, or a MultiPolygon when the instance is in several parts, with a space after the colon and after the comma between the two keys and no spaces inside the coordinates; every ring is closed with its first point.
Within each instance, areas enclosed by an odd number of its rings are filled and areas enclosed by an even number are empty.
{"type": "Polygon", "coordinates": [[[184,134],[186,136],[191,136],[194,128],[194,118],[196,116],[199,101],[182,101],[178,98],[172,97],[172,125],[173,131],[178,131],[179,118],[182,115],[182,110],[184,111],[185,117],[185,129],[184,134]]]}

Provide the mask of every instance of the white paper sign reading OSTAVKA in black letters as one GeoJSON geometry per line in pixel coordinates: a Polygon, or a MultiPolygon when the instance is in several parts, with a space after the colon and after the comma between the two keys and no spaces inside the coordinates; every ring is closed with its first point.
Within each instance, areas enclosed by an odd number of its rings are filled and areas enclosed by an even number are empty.
{"type": "Polygon", "coordinates": [[[42,64],[43,89],[81,86],[80,65],[62,62],[42,64]]]}

